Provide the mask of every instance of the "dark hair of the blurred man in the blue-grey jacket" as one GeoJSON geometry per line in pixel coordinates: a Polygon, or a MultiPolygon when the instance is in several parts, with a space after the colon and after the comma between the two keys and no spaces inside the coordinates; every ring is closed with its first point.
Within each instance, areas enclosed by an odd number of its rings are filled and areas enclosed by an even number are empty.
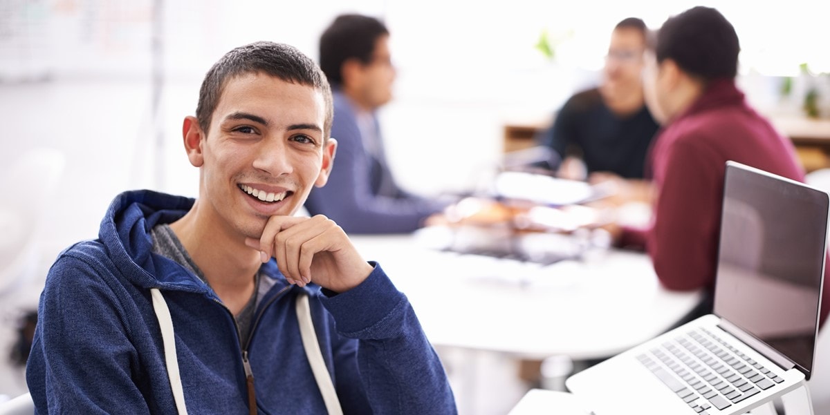
{"type": "Polygon", "coordinates": [[[346,60],[357,59],[364,64],[372,61],[374,46],[389,31],[383,22],[359,14],[343,14],[320,36],[320,69],[333,87],[343,84],[340,71],[346,60]]]}

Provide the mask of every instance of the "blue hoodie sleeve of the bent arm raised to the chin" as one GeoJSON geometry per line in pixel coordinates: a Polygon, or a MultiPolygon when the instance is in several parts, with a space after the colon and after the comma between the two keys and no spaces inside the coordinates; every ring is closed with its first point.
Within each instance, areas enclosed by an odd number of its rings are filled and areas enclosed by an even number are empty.
{"type": "MultiPolygon", "coordinates": [[[[457,413],[447,374],[413,307],[378,264],[358,287],[320,299],[339,335],[359,340],[358,367],[347,370],[360,378],[372,413],[457,413]]],[[[339,354],[335,366],[348,368],[347,357],[339,354]]]]}

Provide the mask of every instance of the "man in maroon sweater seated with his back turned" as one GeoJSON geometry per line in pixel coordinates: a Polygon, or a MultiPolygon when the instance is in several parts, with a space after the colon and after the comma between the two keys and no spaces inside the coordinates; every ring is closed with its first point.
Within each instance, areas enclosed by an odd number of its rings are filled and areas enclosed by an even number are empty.
{"type": "MultiPolygon", "coordinates": [[[[711,292],[725,162],[796,181],[804,171],[792,142],[736,87],[738,36],[720,12],[691,8],[669,18],[653,40],[644,86],[663,129],[650,157],[655,192],[646,249],[663,286],[711,292]]],[[[830,311],[828,292],[825,284],[822,321],[830,311]]]]}

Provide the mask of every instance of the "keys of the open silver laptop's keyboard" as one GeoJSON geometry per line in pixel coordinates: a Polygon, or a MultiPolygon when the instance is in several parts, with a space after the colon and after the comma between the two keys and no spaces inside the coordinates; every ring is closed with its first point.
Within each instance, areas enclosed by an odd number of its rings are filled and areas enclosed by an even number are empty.
{"type": "Polygon", "coordinates": [[[784,379],[705,328],[637,355],[671,391],[701,415],[723,410],[784,379]]]}

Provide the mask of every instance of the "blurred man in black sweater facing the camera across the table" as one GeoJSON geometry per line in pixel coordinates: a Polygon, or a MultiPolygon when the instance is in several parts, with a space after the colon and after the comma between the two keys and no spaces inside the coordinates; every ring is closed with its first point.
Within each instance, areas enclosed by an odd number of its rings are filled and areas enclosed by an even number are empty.
{"type": "Polygon", "coordinates": [[[619,22],[611,33],[603,83],[568,99],[540,143],[564,159],[559,176],[582,179],[585,172],[642,179],[657,122],[643,101],[642,54],[646,24],[636,17],[619,22]]]}

